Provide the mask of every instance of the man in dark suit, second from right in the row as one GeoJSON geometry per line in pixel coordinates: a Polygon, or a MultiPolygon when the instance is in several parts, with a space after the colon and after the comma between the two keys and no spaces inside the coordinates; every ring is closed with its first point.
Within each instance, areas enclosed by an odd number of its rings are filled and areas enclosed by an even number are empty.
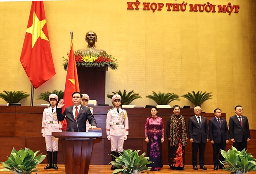
{"type": "Polygon", "coordinates": [[[227,121],[224,118],[220,118],[221,110],[219,108],[214,109],[214,115],[215,117],[209,120],[209,135],[213,144],[213,169],[218,170],[218,167],[219,169],[224,169],[224,166],[220,164],[220,161],[224,161],[220,150],[226,149],[229,137],[227,121]]]}

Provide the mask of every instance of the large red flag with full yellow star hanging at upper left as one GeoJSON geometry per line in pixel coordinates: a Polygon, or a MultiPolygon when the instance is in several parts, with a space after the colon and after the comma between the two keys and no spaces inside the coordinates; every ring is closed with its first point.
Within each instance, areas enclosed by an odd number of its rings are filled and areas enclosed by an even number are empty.
{"type": "Polygon", "coordinates": [[[56,74],[43,1],[32,1],[20,62],[35,88],[56,74]]]}

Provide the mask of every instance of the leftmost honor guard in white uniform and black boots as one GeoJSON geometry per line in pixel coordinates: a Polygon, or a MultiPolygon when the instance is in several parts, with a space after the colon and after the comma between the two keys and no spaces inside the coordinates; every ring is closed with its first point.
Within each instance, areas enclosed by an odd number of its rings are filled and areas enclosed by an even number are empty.
{"type": "Polygon", "coordinates": [[[45,137],[48,161],[48,165],[45,166],[45,169],[58,169],[57,155],[59,139],[52,136],[52,132],[62,131],[62,125],[60,122],[58,122],[56,113],[56,103],[58,102],[58,100],[59,99],[56,94],[50,94],[49,101],[51,106],[49,108],[45,108],[45,110],[43,111],[42,134],[43,137],[45,137]]]}

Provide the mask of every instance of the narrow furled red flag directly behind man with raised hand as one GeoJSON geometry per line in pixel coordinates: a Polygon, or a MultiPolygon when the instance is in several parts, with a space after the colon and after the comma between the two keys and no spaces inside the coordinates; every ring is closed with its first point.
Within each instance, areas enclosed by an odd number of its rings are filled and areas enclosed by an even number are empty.
{"type": "MultiPolygon", "coordinates": [[[[64,103],[65,105],[62,107],[62,112],[64,112],[65,108],[73,105],[72,94],[73,92],[80,92],[79,83],[78,83],[78,75],[76,70],[76,59],[73,50],[73,39],[71,39],[71,46],[69,51],[69,62],[66,73],[66,84],[64,90],[64,103]]],[[[62,128],[66,131],[66,119],[62,121],[62,128]]]]}

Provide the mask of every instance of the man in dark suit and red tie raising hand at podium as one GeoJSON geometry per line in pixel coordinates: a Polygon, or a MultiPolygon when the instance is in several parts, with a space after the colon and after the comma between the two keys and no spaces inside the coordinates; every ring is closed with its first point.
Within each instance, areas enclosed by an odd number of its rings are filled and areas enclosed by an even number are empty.
{"type": "Polygon", "coordinates": [[[57,106],[57,118],[59,121],[66,119],[67,132],[86,132],[86,120],[92,125],[92,129],[97,128],[97,123],[88,107],[81,105],[82,94],[74,92],[72,94],[73,106],[65,108],[62,113],[64,99],[61,99],[57,106]]]}

